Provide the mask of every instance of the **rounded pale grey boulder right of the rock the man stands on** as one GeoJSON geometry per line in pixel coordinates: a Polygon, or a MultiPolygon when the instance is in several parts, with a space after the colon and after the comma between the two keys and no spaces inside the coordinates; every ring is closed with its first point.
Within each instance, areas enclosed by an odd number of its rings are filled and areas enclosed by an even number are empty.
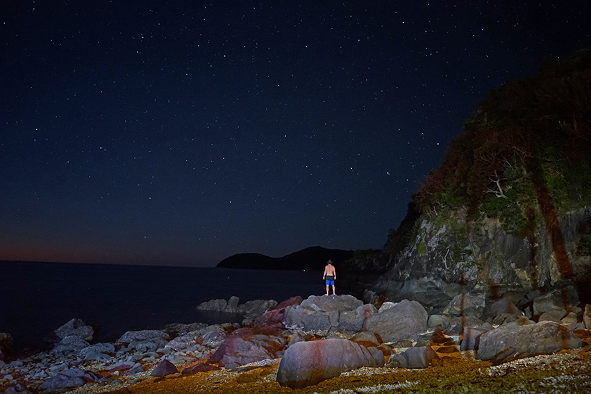
{"type": "Polygon", "coordinates": [[[386,343],[400,340],[414,342],[427,331],[427,312],[418,302],[403,299],[392,308],[369,316],[363,328],[379,334],[386,343]]]}

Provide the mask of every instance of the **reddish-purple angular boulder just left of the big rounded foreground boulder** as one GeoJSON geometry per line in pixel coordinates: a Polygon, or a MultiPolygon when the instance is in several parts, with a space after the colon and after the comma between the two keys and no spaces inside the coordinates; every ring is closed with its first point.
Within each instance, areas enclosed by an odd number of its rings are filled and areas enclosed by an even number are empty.
{"type": "Polygon", "coordinates": [[[285,349],[285,339],[278,336],[253,334],[249,329],[232,333],[208,360],[226,369],[243,366],[265,359],[276,359],[276,353],[285,349]]]}

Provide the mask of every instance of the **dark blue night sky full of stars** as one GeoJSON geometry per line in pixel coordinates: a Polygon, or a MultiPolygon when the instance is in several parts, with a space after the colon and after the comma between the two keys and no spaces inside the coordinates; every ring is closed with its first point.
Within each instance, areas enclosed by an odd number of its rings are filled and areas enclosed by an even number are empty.
{"type": "Polygon", "coordinates": [[[0,260],[381,249],[485,92],[590,47],[573,1],[0,3],[0,260]]]}

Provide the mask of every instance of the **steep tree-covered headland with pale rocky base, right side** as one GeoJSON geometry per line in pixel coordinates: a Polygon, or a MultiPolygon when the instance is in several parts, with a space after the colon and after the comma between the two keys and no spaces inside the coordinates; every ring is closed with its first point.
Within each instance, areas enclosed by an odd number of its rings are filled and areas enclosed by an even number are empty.
{"type": "Polygon", "coordinates": [[[590,50],[492,90],[390,231],[372,290],[437,304],[591,284],[590,152],[590,50]]]}

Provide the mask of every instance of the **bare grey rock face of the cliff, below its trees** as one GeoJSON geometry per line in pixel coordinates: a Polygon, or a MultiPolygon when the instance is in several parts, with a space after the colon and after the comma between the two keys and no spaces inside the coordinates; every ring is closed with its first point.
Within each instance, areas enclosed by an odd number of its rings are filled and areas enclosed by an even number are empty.
{"type": "Polygon", "coordinates": [[[420,220],[412,243],[376,281],[374,290],[389,298],[473,288],[500,295],[553,288],[567,280],[581,282],[590,277],[591,256],[579,253],[581,241],[591,229],[589,207],[559,218],[568,271],[556,261],[544,223],[528,239],[507,233],[498,219],[469,226],[465,214],[455,216],[451,224],[420,220]]]}

